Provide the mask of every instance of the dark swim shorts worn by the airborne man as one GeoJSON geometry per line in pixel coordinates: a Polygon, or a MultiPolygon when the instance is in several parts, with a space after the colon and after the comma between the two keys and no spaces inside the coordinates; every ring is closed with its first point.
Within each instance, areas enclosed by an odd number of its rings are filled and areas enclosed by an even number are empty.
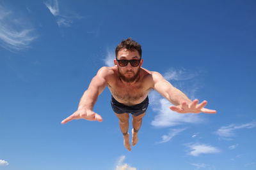
{"type": "Polygon", "coordinates": [[[113,96],[111,96],[111,106],[112,106],[113,111],[115,111],[115,113],[118,113],[118,114],[132,113],[132,115],[137,117],[138,115],[141,115],[142,113],[144,113],[147,110],[148,96],[140,104],[135,104],[132,106],[127,106],[125,104],[119,103],[118,101],[116,101],[116,99],[113,96]]]}

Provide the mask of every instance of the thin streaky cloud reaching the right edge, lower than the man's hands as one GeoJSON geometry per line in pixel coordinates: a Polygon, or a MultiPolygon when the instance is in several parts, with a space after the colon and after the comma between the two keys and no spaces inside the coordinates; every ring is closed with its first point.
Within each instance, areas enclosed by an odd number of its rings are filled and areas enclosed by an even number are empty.
{"type": "Polygon", "coordinates": [[[227,139],[230,140],[230,137],[236,136],[235,132],[238,129],[252,129],[253,127],[256,127],[256,121],[247,123],[247,124],[241,124],[241,125],[236,125],[236,124],[231,124],[227,126],[220,127],[215,134],[220,136],[221,139],[227,139]]]}

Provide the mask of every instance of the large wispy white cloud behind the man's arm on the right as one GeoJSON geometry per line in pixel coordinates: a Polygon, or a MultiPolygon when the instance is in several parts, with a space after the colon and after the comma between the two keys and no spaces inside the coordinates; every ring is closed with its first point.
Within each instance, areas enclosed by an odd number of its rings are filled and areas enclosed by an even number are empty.
{"type": "MultiPolygon", "coordinates": [[[[187,95],[189,94],[189,98],[195,98],[195,93],[196,90],[198,90],[198,86],[196,85],[196,83],[193,84],[191,80],[195,78],[195,76],[197,76],[198,73],[192,73],[191,71],[186,71],[186,69],[170,69],[163,75],[164,78],[166,78],[166,80],[175,80],[175,83],[177,84],[175,85],[175,87],[177,87],[178,89],[182,89],[183,91],[185,90],[185,93],[187,95]],[[183,80],[190,80],[190,86],[184,88],[184,86],[181,83],[183,82],[183,80]]],[[[151,122],[151,124],[156,127],[172,127],[175,125],[186,123],[199,124],[205,121],[202,117],[200,117],[200,115],[180,114],[170,110],[169,107],[171,103],[168,100],[161,97],[155,91],[150,92],[150,104],[150,106],[152,106],[152,109],[157,113],[156,117],[151,122]]]]}

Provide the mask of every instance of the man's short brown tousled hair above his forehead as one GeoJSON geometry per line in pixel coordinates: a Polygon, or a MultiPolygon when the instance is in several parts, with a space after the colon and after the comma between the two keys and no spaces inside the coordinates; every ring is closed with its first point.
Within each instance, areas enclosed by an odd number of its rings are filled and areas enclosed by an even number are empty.
{"type": "Polygon", "coordinates": [[[120,44],[116,46],[116,58],[117,58],[118,52],[123,48],[126,48],[127,50],[130,50],[130,51],[137,50],[141,57],[141,53],[142,53],[141,45],[136,41],[132,40],[131,38],[127,38],[123,40],[120,44]]]}

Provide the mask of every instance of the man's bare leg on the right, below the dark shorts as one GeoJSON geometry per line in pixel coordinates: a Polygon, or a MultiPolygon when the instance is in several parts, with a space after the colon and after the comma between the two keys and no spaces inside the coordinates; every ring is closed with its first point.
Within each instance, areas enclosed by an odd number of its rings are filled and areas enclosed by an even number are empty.
{"type": "Polygon", "coordinates": [[[140,130],[142,118],[145,116],[145,112],[135,117],[132,115],[132,146],[138,143],[138,131],[140,130]]]}

